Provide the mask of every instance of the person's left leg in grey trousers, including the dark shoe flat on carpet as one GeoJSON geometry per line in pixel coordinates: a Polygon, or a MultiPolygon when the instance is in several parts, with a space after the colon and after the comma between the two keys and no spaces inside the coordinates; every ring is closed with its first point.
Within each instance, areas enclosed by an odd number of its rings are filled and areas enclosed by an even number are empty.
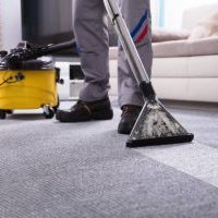
{"type": "Polygon", "coordinates": [[[102,0],[75,0],[73,14],[74,34],[85,77],[78,102],[70,111],[58,110],[57,119],[61,122],[111,119],[105,5],[102,0]]]}

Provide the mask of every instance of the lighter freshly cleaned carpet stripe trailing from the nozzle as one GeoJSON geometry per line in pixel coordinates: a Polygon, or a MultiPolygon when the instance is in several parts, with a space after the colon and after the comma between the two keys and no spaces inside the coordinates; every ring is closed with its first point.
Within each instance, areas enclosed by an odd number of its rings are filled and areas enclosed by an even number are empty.
{"type": "Polygon", "coordinates": [[[218,149],[198,143],[137,148],[138,153],[218,187],[218,149]]]}

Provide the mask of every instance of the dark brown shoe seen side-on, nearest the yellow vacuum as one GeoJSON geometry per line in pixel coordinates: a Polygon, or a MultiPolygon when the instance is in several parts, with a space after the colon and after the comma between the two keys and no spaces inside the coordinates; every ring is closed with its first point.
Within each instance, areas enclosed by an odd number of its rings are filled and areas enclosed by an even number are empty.
{"type": "Polygon", "coordinates": [[[78,100],[69,111],[58,110],[56,119],[60,122],[82,122],[89,120],[110,120],[113,111],[109,98],[86,102],[78,100]]]}

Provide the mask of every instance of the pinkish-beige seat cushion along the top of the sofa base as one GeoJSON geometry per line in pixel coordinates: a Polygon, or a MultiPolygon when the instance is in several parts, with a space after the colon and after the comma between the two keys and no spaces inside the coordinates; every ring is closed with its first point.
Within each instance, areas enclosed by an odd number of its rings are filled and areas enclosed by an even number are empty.
{"type": "Polygon", "coordinates": [[[153,44],[155,58],[218,55],[218,37],[153,44]]]}

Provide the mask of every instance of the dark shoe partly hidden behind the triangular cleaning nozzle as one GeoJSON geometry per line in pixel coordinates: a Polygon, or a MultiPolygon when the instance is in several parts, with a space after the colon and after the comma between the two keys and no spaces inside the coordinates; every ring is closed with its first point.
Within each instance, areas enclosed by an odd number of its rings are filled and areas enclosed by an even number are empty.
{"type": "Polygon", "coordinates": [[[118,133],[130,134],[142,110],[142,107],[134,105],[125,105],[121,109],[122,114],[120,123],[118,125],[118,133]]]}

